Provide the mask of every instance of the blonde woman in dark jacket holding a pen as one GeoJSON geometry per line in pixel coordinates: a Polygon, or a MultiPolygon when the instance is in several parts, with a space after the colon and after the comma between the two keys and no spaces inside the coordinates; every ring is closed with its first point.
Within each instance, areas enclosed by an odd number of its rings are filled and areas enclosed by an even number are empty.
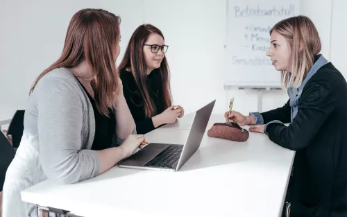
{"type": "Polygon", "coordinates": [[[289,101],[275,110],[226,117],[296,150],[287,190],[290,216],[347,216],[347,83],[325,60],[312,21],[278,22],[266,52],[282,75],[289,101]],[[288,126],[284,123],[289,123],[288,126]]]}

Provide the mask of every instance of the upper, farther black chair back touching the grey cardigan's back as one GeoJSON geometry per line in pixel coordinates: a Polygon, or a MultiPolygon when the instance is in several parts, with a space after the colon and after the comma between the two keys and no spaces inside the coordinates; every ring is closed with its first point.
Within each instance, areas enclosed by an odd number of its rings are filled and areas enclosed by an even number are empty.
{"type": "Polygon", "coordinates": [[[7,136],[12,138],[13,148],[18,148],[23,136],[24,113],[25,110],[17,110],[8,126],[7,136]]]}

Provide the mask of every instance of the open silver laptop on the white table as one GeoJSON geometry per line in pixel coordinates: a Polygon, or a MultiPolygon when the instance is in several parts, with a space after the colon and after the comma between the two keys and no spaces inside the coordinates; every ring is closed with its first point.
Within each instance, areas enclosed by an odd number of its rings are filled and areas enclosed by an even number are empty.
{"type": "Polygon", "coordinates": [[[212,101],[196,111],[185,144],[151,143],[134,155],[119,162],[119,167],[178,171],[201,144],[214,107],[212,101]]]}

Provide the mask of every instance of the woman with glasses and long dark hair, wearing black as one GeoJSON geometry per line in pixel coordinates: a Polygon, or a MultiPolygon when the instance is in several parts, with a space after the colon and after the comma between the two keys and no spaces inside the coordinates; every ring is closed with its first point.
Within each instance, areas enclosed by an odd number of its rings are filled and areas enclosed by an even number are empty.
{"type": "Polygon", "coordinates": [[[162,32],[150,24],[139,26],[119,65],[123,91],[139,134],[174,123],[183,107],[171,105],[170,72],[162,32]]]}

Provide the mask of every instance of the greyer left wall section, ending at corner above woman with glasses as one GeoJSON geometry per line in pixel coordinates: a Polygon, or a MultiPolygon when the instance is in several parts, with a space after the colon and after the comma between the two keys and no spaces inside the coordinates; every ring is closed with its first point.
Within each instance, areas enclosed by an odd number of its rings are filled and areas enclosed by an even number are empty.
{"type": "Polygon", "coordinates": [[[105,8],[121,15],[123,49],[143,22],[142,1],[0,2],[0,98],[15,103],[26,101],[33,80],[60,56],[67,26],[76,11],[105,8]]]}

